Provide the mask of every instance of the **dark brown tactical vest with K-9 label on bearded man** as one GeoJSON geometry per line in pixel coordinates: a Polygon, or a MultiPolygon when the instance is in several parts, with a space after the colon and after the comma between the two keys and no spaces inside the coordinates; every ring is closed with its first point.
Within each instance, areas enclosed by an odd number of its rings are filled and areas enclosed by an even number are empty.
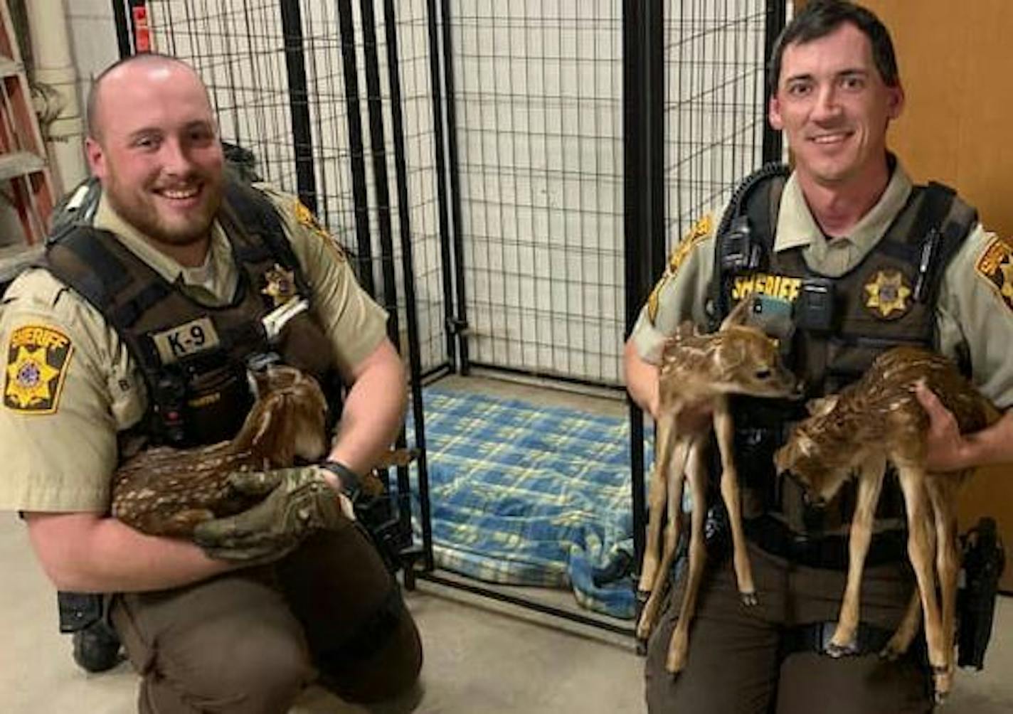
{"type": "Polygon", "coordinates": [[[312,374],[338,403],[329,340],[311,316],[310,292],[275,207],[227,180],[218,220],[239,268],[236,293],[222,306],[187,296],[90,225],[64,226],[47,245],[43,266],[102,314],[139,366],[148,410],[131,432],[149,445],[232,438],[252,404],[247,367],[267,355],[312,374]]]}

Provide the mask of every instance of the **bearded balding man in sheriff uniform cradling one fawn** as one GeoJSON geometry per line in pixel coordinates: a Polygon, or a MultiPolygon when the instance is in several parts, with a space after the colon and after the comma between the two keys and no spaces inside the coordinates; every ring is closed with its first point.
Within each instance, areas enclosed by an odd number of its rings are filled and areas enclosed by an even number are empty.
{"type": "Polygon", "coordinates": [[[88,120],[93,226],[55,236],[0,309],[0,507],[22,512],[59,589],[106,593],[141,712],[286,712],[317,678],[358,701],[409,689],[415,626],[335,507],[403,418],[385,312],[298,201],[223,171],[184,63],[113,65],[88,120]],[[203,524],[200,545],[109,518],[116,465],[138,445],[230,438],[251,403],[247,364],[270,353],[332,396],[347,387],[327,461],[267,472],[267,497],[203,524]]]}

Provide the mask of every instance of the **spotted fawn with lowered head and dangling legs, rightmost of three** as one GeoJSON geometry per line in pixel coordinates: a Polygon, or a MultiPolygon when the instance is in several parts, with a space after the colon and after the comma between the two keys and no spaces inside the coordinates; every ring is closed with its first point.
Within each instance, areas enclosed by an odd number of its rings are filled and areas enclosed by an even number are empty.
{"type": "Polygon", "coordinates": [[[961,433],[978,431],[1000,418],[999,411],[948,360],[921,348],[895,347],[880,354],[858,382],[839,394],[810,402],[811,415],[795,427],[775,455],[775,464],[780,473],[790,472],[801,482],[814,504],[833,498],[852,472],[857,473],[848,579],[837,629],[828,647],[832,656],[853,652],[862,568],[886,462],[897,468],[908,513],[908,556],[918,590],[882,655],[895,658],[908,649],[918,631],[921,605],[936,700],[941,702],[953,678],[959,570],[955,497],[969,471],[926,472],[929,421],[915,396],[919,382],[953,413],[961,433]]]}

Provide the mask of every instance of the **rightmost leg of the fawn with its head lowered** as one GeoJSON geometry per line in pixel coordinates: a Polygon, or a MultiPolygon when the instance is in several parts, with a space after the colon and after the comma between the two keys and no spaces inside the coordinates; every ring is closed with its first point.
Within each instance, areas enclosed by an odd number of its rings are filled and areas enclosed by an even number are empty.
{"type": "Polygon", "coordinates": [[[953,640],[956,636],[956,588],[960,556],[957,552],[956,492],[959,475],[930,475],[926,479],[936,526],[936,571],[939,576],[942,648],[945,669],[935,671],[936,701],[941,702],[953,684],[953,640]]]}

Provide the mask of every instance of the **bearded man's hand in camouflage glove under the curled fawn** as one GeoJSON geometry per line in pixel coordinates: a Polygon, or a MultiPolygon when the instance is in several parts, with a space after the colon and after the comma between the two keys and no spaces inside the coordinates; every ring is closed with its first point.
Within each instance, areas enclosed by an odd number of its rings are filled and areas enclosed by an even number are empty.
{"type": "Polygon", "coordinates": [[[197,527],[193,541],[213,558],[267,562],[291,552],[310,533],[336,530],[349,521],[350,503],[342,502],[347,499],[316,466],[238,471],[229,484],[239,493],[265,497],[241,513],[197,527]]]}

